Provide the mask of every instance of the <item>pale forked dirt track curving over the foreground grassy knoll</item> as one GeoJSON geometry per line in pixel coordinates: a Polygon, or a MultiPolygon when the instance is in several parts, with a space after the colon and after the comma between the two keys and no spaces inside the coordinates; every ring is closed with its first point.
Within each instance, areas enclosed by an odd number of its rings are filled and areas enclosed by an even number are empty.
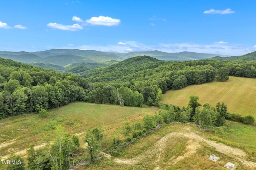
{"type": "MultiPolygon", "coordinates": [[[[146,150],[141,155],[138,155],[131,159],[116,158],[115,162],[118,162],[121,164],[137,164],[138,162],[142,162],[143,160],[146,160],[147,158],[154,156],[155,157],[154,164],[158,165],[158,162],[159,162],[161,156],[164,156],[164,155],[162,155],[164,152],[164,150],[163,150],[164,146],[166,145],[166,143],[168,141],[174,140],[172,138],[173,136],[184,136],[184,137],[190,138],[190,140],[188,141],[188,145],[186,146],[186,153],[184,155],[178,156],[176,158],[172,157],[169,160],[168,166],[176,164],[177,162],[179,162],[180,160],[182,160],[186,157],[192,156],[193,154],[196,153],[196,150],[200,147],[199,142],[204,142],[204,143],[208,144],[209,146],[215,147],[216,151],[218,151],[218,152],[235,157],[237,160],[239,160],[245,166],[256,168],[256,162],[248,161],[245,159],[247,156],[243,150],[240,150],[238,148],[232,148],[225,144],[217,143],[212,140],[208,140],[206,138],[203,138],[202,136],[199,136],[198,134],[196,134],[194,132],[173,132],[173,133],[167,134],[166,136],[159,139],[154,144],[154,146],[152,146],[151,148],[146,150]]],[[[111,158],[111,156],[108,154],[104,153],[104,155],[107,155],[108,158],[111,158]]],[[[156,166],[155,170],[157,170],[159,168],[160,168],[159,166],[156,166]]]]}

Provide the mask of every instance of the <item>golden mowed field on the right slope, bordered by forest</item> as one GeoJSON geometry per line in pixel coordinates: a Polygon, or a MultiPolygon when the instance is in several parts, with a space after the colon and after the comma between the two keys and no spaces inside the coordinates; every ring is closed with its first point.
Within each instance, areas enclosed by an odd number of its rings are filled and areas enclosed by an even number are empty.
{"type": "Polygon", "coordinates": [[[197,95],[202,105],[209,103],[215,106],[218,102],[224,102],[228,112],[256,118],[256,79],[229,76],[226,82],[190,85],[180,90],[167,91],[161,101],[182,107],[188,105],[191,95],[197,95]]]}

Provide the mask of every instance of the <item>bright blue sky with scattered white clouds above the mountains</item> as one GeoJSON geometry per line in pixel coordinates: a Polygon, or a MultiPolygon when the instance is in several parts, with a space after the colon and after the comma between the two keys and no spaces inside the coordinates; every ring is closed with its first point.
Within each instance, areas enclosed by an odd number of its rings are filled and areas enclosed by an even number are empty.
{"type": "Polygon", "coordinates": [[[0,51],[256,51],[254,0],[1,0],[0,51]]]}

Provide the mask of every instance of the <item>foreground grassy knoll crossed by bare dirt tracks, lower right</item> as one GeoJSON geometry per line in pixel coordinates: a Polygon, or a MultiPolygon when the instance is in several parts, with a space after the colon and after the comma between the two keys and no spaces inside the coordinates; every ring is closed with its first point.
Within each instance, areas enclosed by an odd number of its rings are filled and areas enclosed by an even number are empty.
{"type": "MultiPolygon", "coordinates": [[[[117,158],[105,159],[90,169],[214,169],[224,170],[227,162],[236,164],[237,169],[254,169],[242,163],[239,156],[230,154],[229,149],[245,153],[244,160],[256,165],[256,127],[228,122],[216,132],[205,132],[188,124],[167,125],[153,134],[129,145],[124,154],[117,158]],[[182,136],[181,134],[187,134],[182,136]],[[171,136],[170,134],[177,134],[171,136]],[[200,136],[194,137],[193,136],[200,136]],[[192,136],[192,138],[190,137],[192,136]],[[205,140],[199,140],[200,138],[205,140]],[[150,142],[148,142],[150,141],[150,142]],[[209,143],[210,141],[210,143],[209,143]],[[211,141],[217,146],[211,146],[211,141]],[[220,148],[218,148],[220,144],[220,148]],[[223,150],[226,150],[224,152],[223,150]],[[213,162],[209,155],[215,154],[220,160],[213,162]]],[[[239,155],[240,153],[236,153],[239,155]]],[[[81,167],[80,170],[86,168],[81,167]]]]}

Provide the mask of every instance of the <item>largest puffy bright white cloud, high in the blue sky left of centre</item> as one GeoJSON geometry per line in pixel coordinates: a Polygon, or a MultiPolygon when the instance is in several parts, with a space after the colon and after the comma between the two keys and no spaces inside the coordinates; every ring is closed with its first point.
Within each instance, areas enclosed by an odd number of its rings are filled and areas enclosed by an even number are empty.
{"type": "Polygon", "coordinates": [[[111,18],[108,16],[99,16],[99,17],[92,17],[89,20],[86,20],[88,24],[91,25],[100,25],[100,26],[118,26],[121,20],[111,18]]]}

